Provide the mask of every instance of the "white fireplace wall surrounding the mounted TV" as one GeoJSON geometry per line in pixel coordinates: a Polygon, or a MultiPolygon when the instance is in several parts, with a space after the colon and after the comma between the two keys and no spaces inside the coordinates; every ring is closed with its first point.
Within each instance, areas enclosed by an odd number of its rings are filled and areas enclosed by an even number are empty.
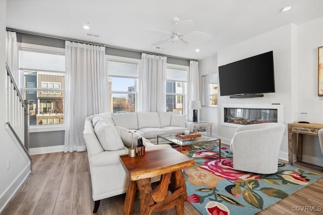
{"type": "MultiPolygon", "coordinates": [[[[219,105],[225,103],[239,104],[272,104],[281,103],[284,109],[285,124],[293,122],[291,114],[292,110],[292,47],[296,46],[296,41],[293,41],[292,35],[294,25],[286,25],[279,29],[267,32],[257,37],[246,40],[242,43],[233,45],[229,48],[218,52],[218,65],[222,66],[231,62],[242,60],[248,57],[259,55],[267,51],[274,51],[274,70],[275,70],[275,93],[265,93],[264,97],[257,98],[229,98],[229,96],[220,96],[219,105]]],[[[221,91],[221,88],[220,88],[221,91]]],[[[219,106],[218,117],[221,119],[221,111],[219,106]]],[[[222,126],[219,123],[219,137],[224,142],[230,142],[233,137],[235,128],[222,126]]],[[[287,126],[286,126],[287,130],[287,126]]],[[[281,158],[288,160],[288,137],[287,131],[284,134],[281,146],[281,158]]]]}

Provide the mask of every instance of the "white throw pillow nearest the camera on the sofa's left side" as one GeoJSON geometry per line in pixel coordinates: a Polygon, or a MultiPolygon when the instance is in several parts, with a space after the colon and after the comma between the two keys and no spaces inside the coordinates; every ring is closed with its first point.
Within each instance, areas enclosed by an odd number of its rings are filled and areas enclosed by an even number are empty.
{"type": "Polygon", "coordinates": [[[97,123],[94,127],[94,132],[105,151],[115,151],[125,148],[115,126],[97,123]]]}

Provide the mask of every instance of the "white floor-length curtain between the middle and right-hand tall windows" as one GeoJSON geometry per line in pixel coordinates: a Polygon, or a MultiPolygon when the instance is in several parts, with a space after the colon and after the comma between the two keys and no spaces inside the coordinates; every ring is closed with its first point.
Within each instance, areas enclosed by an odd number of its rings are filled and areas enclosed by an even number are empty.
{"type": "Polygon", "coordinates": [[[166,111],[167,57],[142,53],[141,62],[138,111],[166,111]]]}

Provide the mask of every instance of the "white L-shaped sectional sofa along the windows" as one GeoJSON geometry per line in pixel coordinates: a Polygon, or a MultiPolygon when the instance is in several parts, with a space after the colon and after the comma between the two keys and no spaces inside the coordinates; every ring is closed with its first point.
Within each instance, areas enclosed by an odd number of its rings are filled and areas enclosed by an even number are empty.
{"type": "Polygon", "coordinates": [[[133,138],[134,144],[140,135],[143,137],[146,151],[169,148],[169,144],[155,145],[149,140],[155,141],[158,134],[190,129],[190,123],[184,121],[183,124],[183,117],[173,113],[103,113],[86,118],[83,137],[88,153],[92,198],[95,202],[93,212],[97,211],[100,199],[127,191],[129,179],[120,162],[120,155],[127,154],[127,147],[131,146],[131,133],[128,131],[137,131],[133,138]]]}

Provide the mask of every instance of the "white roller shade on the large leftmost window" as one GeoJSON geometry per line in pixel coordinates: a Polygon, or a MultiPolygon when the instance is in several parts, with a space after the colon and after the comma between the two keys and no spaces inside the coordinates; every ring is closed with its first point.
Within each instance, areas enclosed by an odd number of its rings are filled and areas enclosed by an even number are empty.
{"type": "Polygon", "coordinates": [[[20,50],[20,70],[65,72],[65,56],[20,50]]]}

